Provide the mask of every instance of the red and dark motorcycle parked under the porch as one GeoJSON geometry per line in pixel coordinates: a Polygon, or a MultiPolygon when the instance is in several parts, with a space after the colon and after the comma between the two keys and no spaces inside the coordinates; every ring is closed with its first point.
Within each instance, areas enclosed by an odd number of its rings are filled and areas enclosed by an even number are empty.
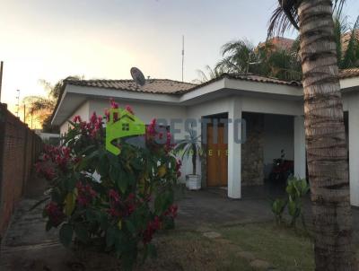
{"type": "Polygon", "coordinates": [[[269,174],[269,180],[275,183],[284,183],[293,175],[294,162],[285,160],[285,151],[281,150],[281,158],[273,160],[273,168],[269,174]]]}

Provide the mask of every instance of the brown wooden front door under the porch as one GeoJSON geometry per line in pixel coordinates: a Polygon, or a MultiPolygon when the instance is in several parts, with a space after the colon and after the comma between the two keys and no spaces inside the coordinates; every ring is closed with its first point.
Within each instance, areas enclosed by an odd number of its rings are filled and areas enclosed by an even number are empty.
{"type": "Polygon", "coordinates": [[[207,187],[227,187],[228,144],[224,143],[224,126],[218,126],[215,142],[215,128],[207,127],[207,187]]]}

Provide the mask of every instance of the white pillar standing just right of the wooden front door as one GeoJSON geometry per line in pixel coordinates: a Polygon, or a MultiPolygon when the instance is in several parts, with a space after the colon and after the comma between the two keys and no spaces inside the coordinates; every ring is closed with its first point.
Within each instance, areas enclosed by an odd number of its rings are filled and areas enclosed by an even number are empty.
{"type": "Polygon", "coordinates": [[[233,97],[228,109],[228,197],[241,198],[241,99],[233,97]]]}

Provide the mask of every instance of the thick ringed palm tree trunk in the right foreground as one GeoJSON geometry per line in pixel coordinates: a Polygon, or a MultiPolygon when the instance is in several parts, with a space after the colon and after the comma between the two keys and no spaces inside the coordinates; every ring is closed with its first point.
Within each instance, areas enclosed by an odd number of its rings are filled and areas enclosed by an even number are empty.
{"type": "Polygon", "coordinates": [[[303,0],[298,13],[316,270],[357,270],[331,1],[303,0]]]}

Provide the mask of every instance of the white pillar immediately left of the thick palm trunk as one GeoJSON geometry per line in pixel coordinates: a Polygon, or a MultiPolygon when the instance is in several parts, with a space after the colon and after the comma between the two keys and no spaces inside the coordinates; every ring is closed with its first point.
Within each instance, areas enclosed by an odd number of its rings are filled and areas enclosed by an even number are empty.
{"type": "Polygon", "coordinates": [[[306,177],[304,118],[294,117],[294,177],[306,177]]]}

